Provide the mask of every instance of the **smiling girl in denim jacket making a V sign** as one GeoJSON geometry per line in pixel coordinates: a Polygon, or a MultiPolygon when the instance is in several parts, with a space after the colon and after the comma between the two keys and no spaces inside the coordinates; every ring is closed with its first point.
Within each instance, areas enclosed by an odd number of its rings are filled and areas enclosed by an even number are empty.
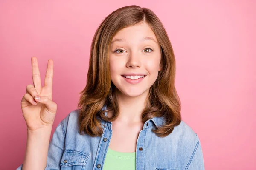
{"type": "Polygon", "coordinates": [[[102,21],[78,109],[50,142],[53,61],[41,87],[31,60],[34,86],[21,101],[26,154],[17,170],[204,170],[199,138],[181,120],[171,42],[148,8],[125,6],[102,21]]]}

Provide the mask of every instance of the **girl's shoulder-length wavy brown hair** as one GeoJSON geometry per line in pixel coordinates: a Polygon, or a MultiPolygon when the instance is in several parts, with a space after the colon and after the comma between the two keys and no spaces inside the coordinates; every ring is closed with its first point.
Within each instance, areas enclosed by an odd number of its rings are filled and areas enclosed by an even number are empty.
{"type": "Polygon", "coordinates": [[[181,122],[180,98],[175,88],[175,56],[166,30],[159,18],[148,8],[131,5],[113,11],[99,25],[93,37],[90,49],[87,84],[81,94],[78,109],[79,133],[90,136],[101,136],[101,120],[113,121],[119,115],[119,107],[111,82],[108,50],[115,34],[122,28],[146,22],[157,37],[161,46],[161,71],[157,80],[150,87],[142,112],[143,123],[153,117],[165,119],[165,124],[152,131],[159,137],[172,133],[181,122]],[[106,106],[106,109],[102,109],[106,106]],[[108,118],[104,112],[111,111],[108,118]]]}

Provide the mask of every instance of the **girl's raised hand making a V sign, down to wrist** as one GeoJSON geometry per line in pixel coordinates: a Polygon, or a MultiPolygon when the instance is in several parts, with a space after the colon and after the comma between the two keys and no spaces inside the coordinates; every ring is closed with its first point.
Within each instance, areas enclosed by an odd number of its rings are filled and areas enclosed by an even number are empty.
{"type": "Polygon", "coordinates": [[[48,60],[44,87],[41,85],[36,57],[31,58],[31,64],[34,85],[26,86],[26,94],[21,100],[21,109],[27,130],[36,131],[52,127],[57,112],[57,104],[52,101],[53,60],[48,60]]]}

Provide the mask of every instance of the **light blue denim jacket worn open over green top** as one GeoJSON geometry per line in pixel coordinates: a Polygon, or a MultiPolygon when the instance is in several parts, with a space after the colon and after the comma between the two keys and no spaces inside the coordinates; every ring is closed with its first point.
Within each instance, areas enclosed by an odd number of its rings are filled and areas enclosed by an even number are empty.
{"type": "MultiPolygon", "coordinates": [[[[112,122],[101,119],[102,136],[80,135],[79,111],[71,111],[56,127],[49,143],[44,170],[102,170],[104,167],[112,122]]],[[[151,132],[163,123],[163,117],[154,117],[144,123],[137,139],[136,170],[204,170],[197,133],[183,121],[166,137],[161,138],[151,132]]],[[[17,170],[21,168],[22,164],[17,170]]]]}

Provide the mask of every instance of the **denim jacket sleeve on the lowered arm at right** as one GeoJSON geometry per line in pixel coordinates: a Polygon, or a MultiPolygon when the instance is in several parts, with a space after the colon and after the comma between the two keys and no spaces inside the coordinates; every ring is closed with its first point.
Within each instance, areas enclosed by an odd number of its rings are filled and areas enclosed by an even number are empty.
{"type": "Polygon", "coordinates": [[[203,152],[202,152],[201,142],[197,134],[196,134],[196,138],[198,139],[197,143],[195,144],[195,148],[193,150],[192,156],[185,170],[204,170],[203,152]]]}

